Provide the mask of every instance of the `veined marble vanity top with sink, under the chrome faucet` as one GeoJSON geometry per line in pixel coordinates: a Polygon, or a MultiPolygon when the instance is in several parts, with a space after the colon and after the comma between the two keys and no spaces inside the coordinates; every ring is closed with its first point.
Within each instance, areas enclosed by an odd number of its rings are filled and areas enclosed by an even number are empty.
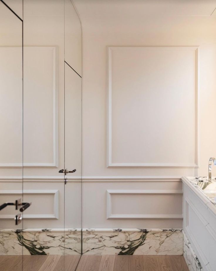
{"type": "Polygon", "coordinates": [[[212,182],[207,177],[183,177],[182,180],[188,180],[216,207],[216,178],[212,178],[212,182]]]}

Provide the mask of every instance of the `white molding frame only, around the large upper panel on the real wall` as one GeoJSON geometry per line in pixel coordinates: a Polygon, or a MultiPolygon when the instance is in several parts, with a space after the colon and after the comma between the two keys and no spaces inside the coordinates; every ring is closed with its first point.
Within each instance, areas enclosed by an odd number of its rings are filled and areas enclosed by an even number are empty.
{"type": "Polygon", "coordinates": [[[198,168],[198,46],[107,46],[107,168],[198,168]],[[195,51],[195,161],[194,163],[112,163],[112,51],[114,50],[191,50],[195,51]]]}

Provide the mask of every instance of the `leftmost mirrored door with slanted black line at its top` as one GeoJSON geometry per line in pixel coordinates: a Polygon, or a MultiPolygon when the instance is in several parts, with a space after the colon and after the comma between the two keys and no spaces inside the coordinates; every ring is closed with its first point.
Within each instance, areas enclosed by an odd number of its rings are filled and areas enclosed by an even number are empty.
{"type": "Polygon", "coordinates": [[[0,37],[0,269],[21,271],[22,21],[1,1],[0,37]]]}

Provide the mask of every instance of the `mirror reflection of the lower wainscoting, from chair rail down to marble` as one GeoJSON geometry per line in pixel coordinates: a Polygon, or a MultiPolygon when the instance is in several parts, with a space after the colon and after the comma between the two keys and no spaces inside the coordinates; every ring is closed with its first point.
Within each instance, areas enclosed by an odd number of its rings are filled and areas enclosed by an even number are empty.
{"type": "MultiPolygon", "coordinates": [[[[22,197],[21,181],[12,176],[0,180],[1,203],[22,197]]],[[[32,202],[23,212],[23,228],[80,228],[81,221],[81,180],[68,178],[67,189],[64,179],[59,176],[27,176],[24,177],[23,200],[32,202]],[[67,198],[64,208],[64,193],[67,198]],[[64,210],[67,212],[67,221],[64,224],[64,210]]],[[[1,229],[20,229],[15,226],[14,217],[19,211],[14,206],[7,206],[1,210],[1,229]]]]}

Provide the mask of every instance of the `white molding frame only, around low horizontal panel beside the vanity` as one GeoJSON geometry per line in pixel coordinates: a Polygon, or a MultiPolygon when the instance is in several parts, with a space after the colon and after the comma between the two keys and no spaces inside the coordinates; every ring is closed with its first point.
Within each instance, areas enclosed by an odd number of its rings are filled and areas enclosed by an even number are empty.
{"type": "Polygon", "coordinates": [[[183,219],[182,214],[112,214],[111,195],[182,195],[182,190],[107,190],[107,219],[183,219]]]}

